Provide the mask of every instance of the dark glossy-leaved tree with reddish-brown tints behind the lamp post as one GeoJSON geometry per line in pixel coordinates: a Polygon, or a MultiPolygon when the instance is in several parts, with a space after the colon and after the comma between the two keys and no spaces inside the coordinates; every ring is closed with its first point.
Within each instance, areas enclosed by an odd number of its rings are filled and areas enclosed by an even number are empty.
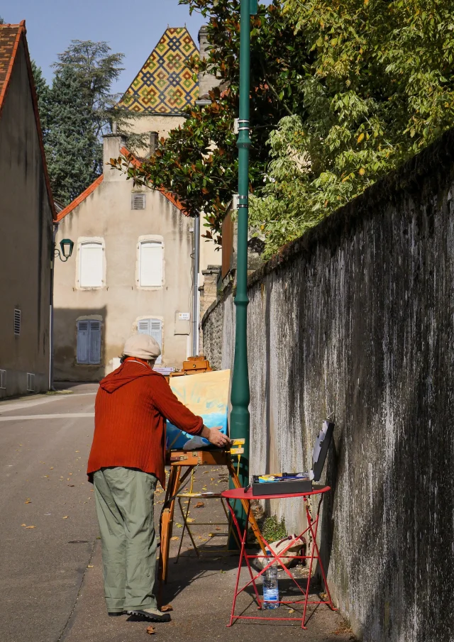
{"type": "MultiPolygon", "coordinates": [[[[180,0],[189,11],[209,18],[209,57],[193,60],[194,74],[216,74],[220,87],[211,92],[212,104],[187,109],[184,126],[172,131],[153,157],[140,168],[124,159],[135,182],[165,187],[177,194],[194,216],[203,211],[206,236],[220,242],[226,205],[238,190],[238,150],[233,120],[238,116],[240,23],[238,0],[180,0]]],[[[259,5],[251,17],[250,185],[262,182],[269,160],[267,138],[286,114],[304,114],[301,81],[310,55],[293,35],[294,26],[282,15],[281,2],[259,5]]],[[[300,37],[301,40],[301,37],[300,37]]]]}

